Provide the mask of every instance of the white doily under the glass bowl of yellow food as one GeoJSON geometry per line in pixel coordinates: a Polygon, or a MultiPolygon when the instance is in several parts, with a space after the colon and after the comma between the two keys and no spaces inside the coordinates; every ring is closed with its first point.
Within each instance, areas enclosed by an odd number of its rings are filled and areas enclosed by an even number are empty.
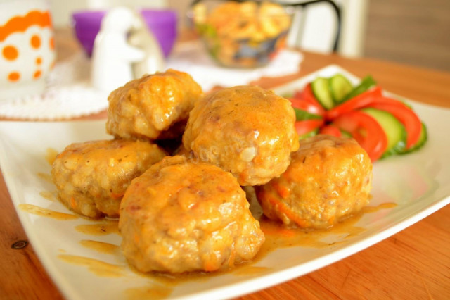
{"type": "Polygon", "coordinates": [[[166,62],[166,67],[190,74],[204,91],[209,91],[217,85],[221,87],[247,85],[263,76],[278,77],[297,73],[302,60],[303,56],[298,51],[284,49],[262,68],[223,68],[207,54],[202,42],[195,40],[176,45],[166,62]]]}

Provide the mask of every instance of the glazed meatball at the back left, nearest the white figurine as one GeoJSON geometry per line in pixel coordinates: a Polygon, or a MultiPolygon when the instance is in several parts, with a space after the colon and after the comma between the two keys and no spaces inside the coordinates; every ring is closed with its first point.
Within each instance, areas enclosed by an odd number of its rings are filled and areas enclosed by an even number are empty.
{"type": "Polygon", "coordinates": [[[111,92],[106,131],[124,139],[181,136],[201,96],[202,88],[186,73],[169,69],[144,75],[111,92]]]}

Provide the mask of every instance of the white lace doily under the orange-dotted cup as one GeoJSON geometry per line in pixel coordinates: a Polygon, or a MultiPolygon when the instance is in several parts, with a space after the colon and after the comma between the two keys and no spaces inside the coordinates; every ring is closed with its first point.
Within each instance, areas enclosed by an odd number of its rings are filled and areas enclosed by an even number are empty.
{"type": "Polygon", "coordinates": [[[57,63],[44,94],[0,101],[0,116],[58,120],[98,113],[108,107],[108,93],[91,87],[90,61],[79,53],[57,63]]]}

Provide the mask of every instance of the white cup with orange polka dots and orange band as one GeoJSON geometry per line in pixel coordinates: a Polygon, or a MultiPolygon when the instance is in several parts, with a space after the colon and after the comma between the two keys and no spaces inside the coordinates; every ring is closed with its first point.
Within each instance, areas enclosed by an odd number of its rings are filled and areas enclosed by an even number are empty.
{"type": "Polygon", "coordinates": [[[0,100],[44,92],[54,48],[47,1],[0,1],[0,100]]]}

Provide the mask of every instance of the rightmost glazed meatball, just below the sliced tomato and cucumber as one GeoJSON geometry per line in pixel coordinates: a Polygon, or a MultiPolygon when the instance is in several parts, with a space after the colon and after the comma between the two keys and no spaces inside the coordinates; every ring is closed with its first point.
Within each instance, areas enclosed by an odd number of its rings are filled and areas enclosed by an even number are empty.
{"type": "Polygon", "coordinates": [[[368,204],[372,164],[344,137],[317,135],[300,142],[288,169],[256,187],[264,215],[304,228],[326,228],[368,204]]]}

